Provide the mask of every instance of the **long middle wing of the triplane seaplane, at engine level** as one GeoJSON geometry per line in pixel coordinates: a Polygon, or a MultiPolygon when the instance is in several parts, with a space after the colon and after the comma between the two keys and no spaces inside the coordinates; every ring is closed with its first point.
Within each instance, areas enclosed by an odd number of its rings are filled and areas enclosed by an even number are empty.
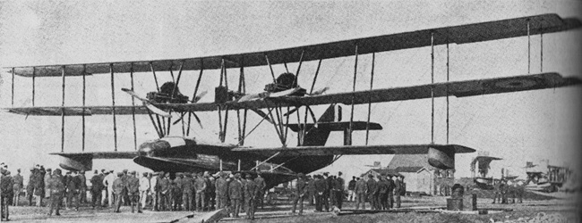
{"type": "MultiPolygon", "coordinates": [[[[554,87],[567,87],[579,85],[582,80],[579,78],[562,78],[558,73],[540,73],[533,75],[513,76],[508,78],[487,78],[454,81],[448,83],[436,83],[413,87],[394,87],[374,89],[371,91],[356,91],[347,93],[336,93],[329,95],[314,96],[284,96],[276,98],[265,98],[246,102],[229,103],[164,103],[156,104],[161,109],[172,109],[174,111],[216,111],[218,106],[223,109],[264,109],[277,106],[299,106],[318,105],[330,103],[351,104],[352,98],[355,104],[361,103],[385,103],[393,101],[405,101],[422,98],[431,98],[431,90],[434,97],[451,96],[474,96],[491,95],[508,92],[518,92],[554,87]]],[[[143,106],[116,106],[116,114],[132,114],[135,109],[136,114],[147,114],[148,111],[143,106]]],[[[25,115],[81,115],[83,107],[22,107],[6,108],[18,114],[25,115]]],[[[90,114],[112,114],[112,106],[85,107],[84,113],[90,114]]]]}

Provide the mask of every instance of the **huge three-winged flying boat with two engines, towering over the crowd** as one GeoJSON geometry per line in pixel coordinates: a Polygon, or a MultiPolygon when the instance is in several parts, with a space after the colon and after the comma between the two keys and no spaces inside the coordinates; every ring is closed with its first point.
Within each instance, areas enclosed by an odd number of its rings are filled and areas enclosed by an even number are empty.
{"type": "MultiPolygon", "coordinates": [[[[224,54],[195,58],[139,61],[139,62],[103,62],[86,64],[46,65],[30,67],[12,67],[13,76],[22,77],[65,77],[82,76],[83,83],[87,75],[110,74],[113,100],[107,106],[85,106],[85,91],[81,106],[54,107],[11,107],[4,109],[23,115],[51,115],[62,117],[62,134],[64,134],[65,116],[82,116],[83,152],[64,152],[62,137],[61,153],[51,153],[62,157],[64,169],[91,169],[92,159],[133,159],[137,164],[152,170],[169,172],[186,171],[261,171],[268,186],[276,186],[295,178],[297,173],[310,173],[324,168],[341,155],[358,154],[428,154],[428,162],[440,169],[453,169],[456,153],[472,153],[474,149],[463,145],[436,145],[433,143],[418,145],[352,145],[352,132],[365,130],[366,139],[370,130],[380,130],[381,125],[370,121],[353,120],[355,104],[387,103],[435,97],[467,97],[475,95],[501,94],[554,87],[569,87],[580,84],[578,78],[563,78],[559,73],[544,72],[503,78],[484,78],[456,82],[444,82],[410,86],[381,88],[334,94],[324,94],[326,88],[314,91],[313,86],[319,74],[321,61],[325,59],[354,56],[355,68],[357,57],[372,54],[373,63],[376,53],[449,44],[468,44],[491,41],[510,37],[525,37],[553,32],[561,32],[580,27],[578,19],[562,19],[556,14],[543,14],[523,18],[489,21],[438,29],[424,29],[405,33],[390,34],[379,37],[365,37],[319,45],[277,49],[248,54],[224,54]],[[299,87],[302,62],[319,61],[312,79],[310,90],[299,87]],[[295,73],[289,72],[287,63],[297,62],[295,73]],[[287,72],[276,78],[272,65],[284,64],[287,72]],[[264,92],[246,94],[244,68],[269,66],[272,83],[264,92]],[[204,70],[220,70],[220,85],[215,89],[215,99],[211,103],[200,103],[199,93],[201,76],[204,70]],[[240,81],[237,90],[227,85],[227,69],[240,69],[240,81]],[[177,70],[177,77],[174,73],[177,70]],[[200,74],[192,100],[182,95],[178,85],[184,70],[199,70],[200,74]],[[169,71],[174,81],[158,86],[156,72],[169,71]],[[134,92],[133,73],[151,72],[156,81],[157,91],[145,98],[134,92]],[[114,75],[129,73],[132,86],[125,92],[140,100],[142,105],[116,105],[114,75]],[[341,121],[335,115],[336,104],[350,105],[350,120],[341,121]],[[326,105],[330,107],[315,119],[310,106],[326,105]],[[299,108],[304,107],[304,117],[300,118],[299,108]],[[284,112],[286,109],[287,112],[284,112]],[[244,138],[250,134],[246,131],[246,112],[251,110],[267,120],[275,128],[281,146],[256,148],[244,146],[244,138]],[[218,111],[220,115],[220,143],[202,142],[189,137],[191,120],[200,118],[195,112],[218,111]],[[225,144],[228,111],[236,111],[238,117],[238,143],[225,144]],[[292,113],[297,116],[297,123],[289,123],[292,113]],[[241,115],[243,113],[243,115],[241,115]],[[133,133],[135,151],[132,152],[84,152],[84,120],[90,115],[111,115],[114,122],[114,140],[116,136],[116,115],[148,115],[158,133],[158,139],[137,145],[135,139],[135,119],[133,133]],[[241,118],[241,116],[243,118],[241,118]],[[308,117],[311,116],[311,119],[308,117]],[[172,122],[172,118],[176,120],[172,122]],[[310,121],[308,121],[310,120],[310,121]],[[169,136],[172,125],[181,123],[183,136],[169,136]],[[296,146],[287,146],[288,129],[297,132],[296,146]],[[344,145],[326,146],[331,131],[344,132],[344,145]]],[[[356,70],[354,72],[354,81],[356,70]]],[[[433,73],[432,73],[433,76],[433,73]]],[[[269,76],[267,76],[269,77],[269,76]]],[[[432,78],[434,79],[434,78],[432,78]]],[[[371,81],[372,82],[372,81],[371,81]]],[[[34,83],[34,81],[33,81],[34,83]]],[[[84,87],[84,84],[83,84],[84,87]]],[[[34,88],[34,85],[33,85],[34,88]]],[[[33,91],[34,92],[34,91],[33,91]]],[[[432,101],[433,102],[433,101],[432,101]]],[[[262,122],[261,120],[261,122],[262,122]]],[[[259,124],[261,124],[259,122],[259,124]]],[[[251,130],[252,132],[252,130],[251,130]]],[[[367,141],[367,140],[366,140],[367,141]]],[[[117,145],[117,143],[115,144],[117,145]]]]}

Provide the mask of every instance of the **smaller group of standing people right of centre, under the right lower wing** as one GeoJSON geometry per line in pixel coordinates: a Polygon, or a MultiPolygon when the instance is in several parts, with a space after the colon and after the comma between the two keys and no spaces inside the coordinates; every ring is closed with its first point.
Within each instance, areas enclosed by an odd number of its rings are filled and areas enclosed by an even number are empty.
{"type": "Polygon", "coordinates": [[[338,176],[323,173],[321,175],[304,176],[299,174],[295,183],[295,199],[292,213],[295,213],[296,203],[299,203],[299,214],[303,212],[303,201],[310,205],[315,204],[315,211],[333,211],[342,209],[344,200],[355,202],[355,209],[360,205],[365,209],[365,203],[370,203],[372,210],[389,210],[400,207],[400,196],[405,193],[405,185],[402,177],[389,177],[380,175],[374,178],[372,175],[352,177],[345,191],[345,180],[342,172],[338,176]],[[394,178],[394,179],[393,179],[394,178]],[[347,195],[347,197],[346,197],[347,195]],[[396,205],[395,205],[396,203],[396,205]],[[331,209],[330,209],[331,207],[331,209]]]}

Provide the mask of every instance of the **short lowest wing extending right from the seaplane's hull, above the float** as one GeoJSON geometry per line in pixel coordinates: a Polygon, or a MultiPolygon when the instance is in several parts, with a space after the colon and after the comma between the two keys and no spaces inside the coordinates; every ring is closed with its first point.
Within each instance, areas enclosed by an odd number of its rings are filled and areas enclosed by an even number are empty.
{"type": "Polygon", "coordinates": [[[455,153],[473,153],[474,149],[463,145],[339,145],[339,146],[299,146],[299,147],[272,147],[252,148],[238,147],[233,152],[254,153],[270,156],[300,155],[366,155],[366,154],[426,154],[429,148],[454,150],[455,153]]]}

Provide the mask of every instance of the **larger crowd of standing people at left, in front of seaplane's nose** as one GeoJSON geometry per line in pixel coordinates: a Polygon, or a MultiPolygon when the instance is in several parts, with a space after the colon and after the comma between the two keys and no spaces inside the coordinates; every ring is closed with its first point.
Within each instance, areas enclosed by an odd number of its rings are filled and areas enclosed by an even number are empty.
{"type": "Polygon", "coordinates": [[[120,212],[121,205],[131,206],[132,212],[141,213],[142,209],[152,211],[213,211],[226,209],[233,217],[239,218],[240,211],[246,211],[246,217],[254,218],[257,204],[262,204],[266,187],[261,173],[244,174],[219,171],[211,175],[208,171],[178,172],[175,178],[163,171],[142,173],[124,169],[101,169],[94,171],[87,184],[85,171],[67,171],[45,169],[35,166],[30,169],[28,185],[23,190],[20,169],[11,175],[7,167],[2,167],[2,203],[3,219],[8,218],[7,206],[18,205],[21,191],[28,200],[28,205],[48,207],[47,215],[60,215],[61,206],[78,211],[80,203],[90,203],[92,209],[103,207],[120,212]],[[254,177],[256,176],[256,177],[254,177]],[[90,192],[90,201],[87,200],[90,192]],[[43,200],[46,202],[43,205],[43,200]],[[5,207],[5,209],[4,209],[5,207]]]}

